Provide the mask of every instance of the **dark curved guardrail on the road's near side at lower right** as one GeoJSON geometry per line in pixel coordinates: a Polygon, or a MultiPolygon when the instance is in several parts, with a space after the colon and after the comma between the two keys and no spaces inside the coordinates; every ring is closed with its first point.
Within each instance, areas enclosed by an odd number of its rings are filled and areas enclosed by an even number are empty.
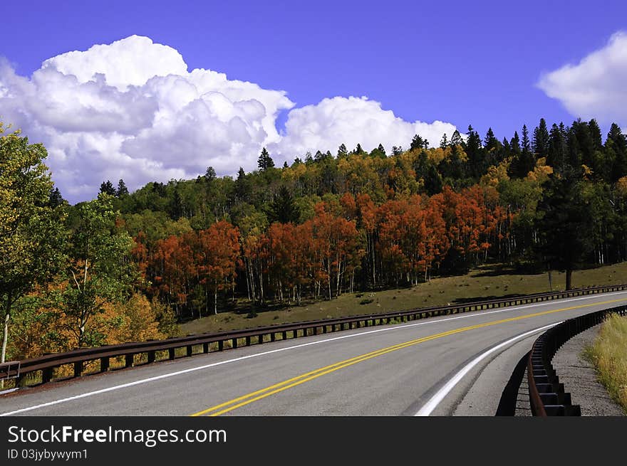
{"type": "Polygon", "coordinates": [[[527,380],[529,382],[529,403],[534,416],[579,416],[581,407],[573,405],[570,393],[564,391],[564,383],[551,365],[558,349],[576,334],[600,324],[608,314],[627,315],[627,306],[622,305],[591,312],[574,319],[568,319],[541,334],[529,354],[527,380]]]}

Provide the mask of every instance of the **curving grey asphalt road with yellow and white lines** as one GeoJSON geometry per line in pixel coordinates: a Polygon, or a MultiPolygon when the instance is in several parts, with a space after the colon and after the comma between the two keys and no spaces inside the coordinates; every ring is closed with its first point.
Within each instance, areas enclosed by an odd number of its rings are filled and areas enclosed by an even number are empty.
{"type": "Polygon", "coordinates": [[[352,329],[0,396],[0,415],[494,415],[543,327],[627,292],[352,329]]]}

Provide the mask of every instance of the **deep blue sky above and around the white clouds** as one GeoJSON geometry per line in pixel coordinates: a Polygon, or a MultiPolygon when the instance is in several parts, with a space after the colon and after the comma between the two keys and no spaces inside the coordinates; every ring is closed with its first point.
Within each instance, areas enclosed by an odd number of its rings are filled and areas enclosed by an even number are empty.
{"type": "MultiPolygon", "coordinates": [[[[280,132],[291,109],[366,96],[406,122],[440,120],[462,132],[472,124],[481,134],[492,126],[502,139],[540,117],[569,123],[585,113],[537,83],[606,47],[627,30],[626,18],[627,2],[612,0],[22,1],[0,28],[0,55],[15,75],[30,78],[56,55],[146,36],[180,53],[187,70],[285,91],[291,104],[276,109],[280,132]]],[[[604,130],[610,117],[616,112],[598,115],[604,130]]],[[[627,120],[618,124],[627,127],[627,120]]],[[[299,144],[291,147],[306,145],[299,144]]],[[[85,187],[79,191],[77,199],[90,196],[85,187]]]]}

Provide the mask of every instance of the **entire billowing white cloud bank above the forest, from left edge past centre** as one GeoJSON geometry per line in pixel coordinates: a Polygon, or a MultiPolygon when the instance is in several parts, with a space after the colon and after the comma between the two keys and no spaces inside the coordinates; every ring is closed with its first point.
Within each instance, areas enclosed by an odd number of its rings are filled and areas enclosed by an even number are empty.
{"type": "Polygon", "coordinates": [[[437,144],[448,123],[405,122],[366,97],[333,97],[294,108],[283,90],[195,69],[173,48],[130,36],[45,60],[30,77],[0,58],[0,120],[48,149],[46,164],[71,202],[95,197],[100,183],[123,178],[190,179],[257,168],[261,147],[276,162],[306,152],[336,152],[359,142],[407,147],[418,133],[437,144]],[[280,112],[285,132],[276,130],[280,112]]]}

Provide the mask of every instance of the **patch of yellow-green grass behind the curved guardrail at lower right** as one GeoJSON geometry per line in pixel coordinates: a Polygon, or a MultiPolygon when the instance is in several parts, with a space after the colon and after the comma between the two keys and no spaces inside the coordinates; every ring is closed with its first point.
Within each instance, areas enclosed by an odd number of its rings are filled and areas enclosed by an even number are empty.
{"type": "Polygon", "coordinates": [[[598,381],[627,414],[627,317],[611,315],[601,324],[584,358],[596,368],[598,381]]]}

